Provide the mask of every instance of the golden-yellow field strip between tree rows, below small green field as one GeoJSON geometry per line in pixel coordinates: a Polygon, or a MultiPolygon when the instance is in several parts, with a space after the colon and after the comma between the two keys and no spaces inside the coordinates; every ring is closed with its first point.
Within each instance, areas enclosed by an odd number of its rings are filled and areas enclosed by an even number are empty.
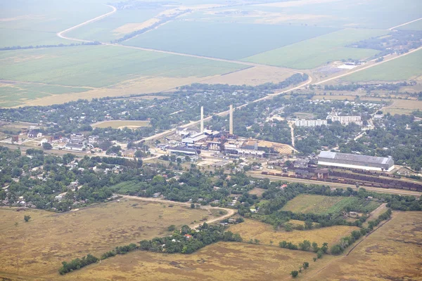
{"type": "MultiPolygon", "coordinates": [[[[292,221],[295,224],[299,224],[298,222],[292,221]]],[[[257,239],[261,241],[261,244],[270,244],[270,241],[273,241],[274,245],[278,245],[283,240],[294,244],[303,242],[303,240],[309,240],[310,242],[318,243],[320,246],[324,242],[327,242],[329,245],[335,244],[341,237],[345,237],[357,229],[359,228],[354,226],[331,226],[329,228],[293,230],[290,232],[282,229],[275,231],[271,225],[251,219],[245,219],[245,222],[238,223],[229,228],[232,233],[239,233],[244,241],[257,239]]]]}

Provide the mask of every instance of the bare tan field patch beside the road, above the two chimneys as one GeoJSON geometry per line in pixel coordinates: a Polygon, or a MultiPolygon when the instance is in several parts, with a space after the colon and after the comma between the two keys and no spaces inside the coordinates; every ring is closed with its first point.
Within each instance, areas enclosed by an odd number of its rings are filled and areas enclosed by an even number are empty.
{"type": "Polygon", "coordinates": [[[279,83],[292,76],[295,72],[280,67],[255,66],[245,70],[239,70],[224,74],[219,77],[203,80],[206,84],[229,84],[229,85],[260,85],[267,82],[279,83]]]}

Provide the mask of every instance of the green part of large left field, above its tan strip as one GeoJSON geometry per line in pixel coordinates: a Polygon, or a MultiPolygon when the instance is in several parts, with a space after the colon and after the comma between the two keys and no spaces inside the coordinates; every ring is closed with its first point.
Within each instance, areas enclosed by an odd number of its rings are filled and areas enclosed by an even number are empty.
{"type": "Polygon", "coordinates": [[[0,79],[104,87],[139,77],[207,77],[245,68],[180,55],[115,46],[0,52],[0,79]]]}

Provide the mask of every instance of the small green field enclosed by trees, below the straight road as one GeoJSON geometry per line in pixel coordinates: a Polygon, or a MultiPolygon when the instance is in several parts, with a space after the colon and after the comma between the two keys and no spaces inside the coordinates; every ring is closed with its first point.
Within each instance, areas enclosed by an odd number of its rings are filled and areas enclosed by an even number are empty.
{"type": "MultiPolygon", "coordinates": [[[[301,194],[287,202],[281,209],[302,214],[338,214],[345,206],[359,204],[357,201],[357,198],[352,197],[301,194]]],[[[368,202],[364,209],[370,212],[379,205],[377,202],[368,202]]]]}

